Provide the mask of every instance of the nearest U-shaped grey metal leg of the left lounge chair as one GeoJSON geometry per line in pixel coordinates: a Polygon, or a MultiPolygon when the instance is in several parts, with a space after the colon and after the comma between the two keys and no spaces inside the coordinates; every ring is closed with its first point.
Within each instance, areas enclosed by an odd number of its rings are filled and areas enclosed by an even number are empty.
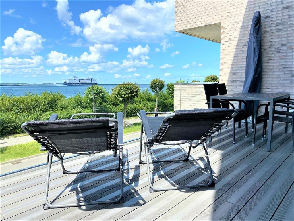
{"type": "Polygon", "coordinates": [[[95,204],[101,204],[101,203],[114,203],[119,202],[123,203],[123,148],[120,148],[119,151],[119,157],[120,157],[120,177],[121,177],[121,194],[117,199],[112,200],[103,200],[103,201],[96,201],[96,202],[81,202],[81,203],[73,203],[73,204],[56,204],[53,205],[49,203],[48,201],[48,191],[49,191],[49,179],[50,179],[50,169],[52,164],[52,154],[49,154],[49,161],[48,161],[48,170],[47,170],[47,178],[46,178],[46,188],[45,188],[45,204],[44,204],[44,210],[48,209],[54,209],[54,208],[66,208],[66,207],[78,207],[78,206],[86,206],[86,205],[95,205],[95,204]]]}

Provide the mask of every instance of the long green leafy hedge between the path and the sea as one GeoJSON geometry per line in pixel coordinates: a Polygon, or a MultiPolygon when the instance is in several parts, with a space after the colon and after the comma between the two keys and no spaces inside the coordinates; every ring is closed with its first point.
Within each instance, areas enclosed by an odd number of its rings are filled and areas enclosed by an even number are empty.
{"type": "MultiPolygon", "coordinates": [[[[107,93],[107,92],[106,92],[107,93]]],[[[123,112],[123,104],[108,93],[106,103],[96,106],[96,112],[123,112]]],[[[126,117],[137,116],[139,110],[154,111],[156,96],[144,90],[128,106],[126,117]]],[[[159,111],[173,110],[173,96],[158,93],[159,111]]],[[[68,119],[74,113],[92,113],[93,104],[85,96],[77,94],[66,98],[63,94],[43,92],[41,95],[27,93],[25,96],[0,96],[0,136],[23,133],[21,124],[26,121],[48,120],[53,113],[59,119],[68,119]]],[[[81,116],[91,117],[91,116],[81,116]]]]}

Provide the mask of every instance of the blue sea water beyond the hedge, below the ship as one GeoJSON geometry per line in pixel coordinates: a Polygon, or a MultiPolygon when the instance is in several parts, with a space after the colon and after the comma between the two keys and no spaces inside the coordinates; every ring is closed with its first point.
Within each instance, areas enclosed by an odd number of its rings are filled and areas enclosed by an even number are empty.
{"type": "MultiPolygon", "coordinates": [[[[149,84],[138,84],[140,86],[141,91],[149,88],[149,84]]],[[[105,88],[105,90],[109,93],[112,92],[112,89],[116,86],[116,84],[101,84],[105,88]]],[[[73,97],[77,93],[81,93],[84,95],[85,90],[88,87],[92,87],[91,85],[76,85],[76,86],[68,86],[68,85],[4,85],[0,86],[0,94],[6,95],[14,95],[14,96],[24,96],[26,93],[38,93],[41,94],[43,91],[51,91],[51,92],[60,92],[64,94],[66,98],[73,97]]]]}

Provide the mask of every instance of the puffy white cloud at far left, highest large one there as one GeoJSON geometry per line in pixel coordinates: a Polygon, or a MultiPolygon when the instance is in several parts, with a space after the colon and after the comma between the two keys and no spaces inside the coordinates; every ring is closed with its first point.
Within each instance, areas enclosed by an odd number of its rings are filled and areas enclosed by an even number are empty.
{"type": "Polygon", "coordinates": [[[35,32],[20,28],[13,37],[9,36],[4,40],[2,50],[4,55],[34,55],[43,49],[42,42],[45,40],[35,32]]]}

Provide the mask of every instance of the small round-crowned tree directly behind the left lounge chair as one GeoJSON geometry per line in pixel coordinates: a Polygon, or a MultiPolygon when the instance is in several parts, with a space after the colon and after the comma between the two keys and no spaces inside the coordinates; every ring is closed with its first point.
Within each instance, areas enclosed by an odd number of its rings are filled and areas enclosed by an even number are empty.
{"type": "Polygon", "coordinates": [[[93,85],[85,90],[85,97],[88,101],[93,101],[93,111],[96,111],[96,104],[106,103],[107,92],[102,86],[93,85]],[[94,99],[93,99],[94,95],[94,99]]]}

